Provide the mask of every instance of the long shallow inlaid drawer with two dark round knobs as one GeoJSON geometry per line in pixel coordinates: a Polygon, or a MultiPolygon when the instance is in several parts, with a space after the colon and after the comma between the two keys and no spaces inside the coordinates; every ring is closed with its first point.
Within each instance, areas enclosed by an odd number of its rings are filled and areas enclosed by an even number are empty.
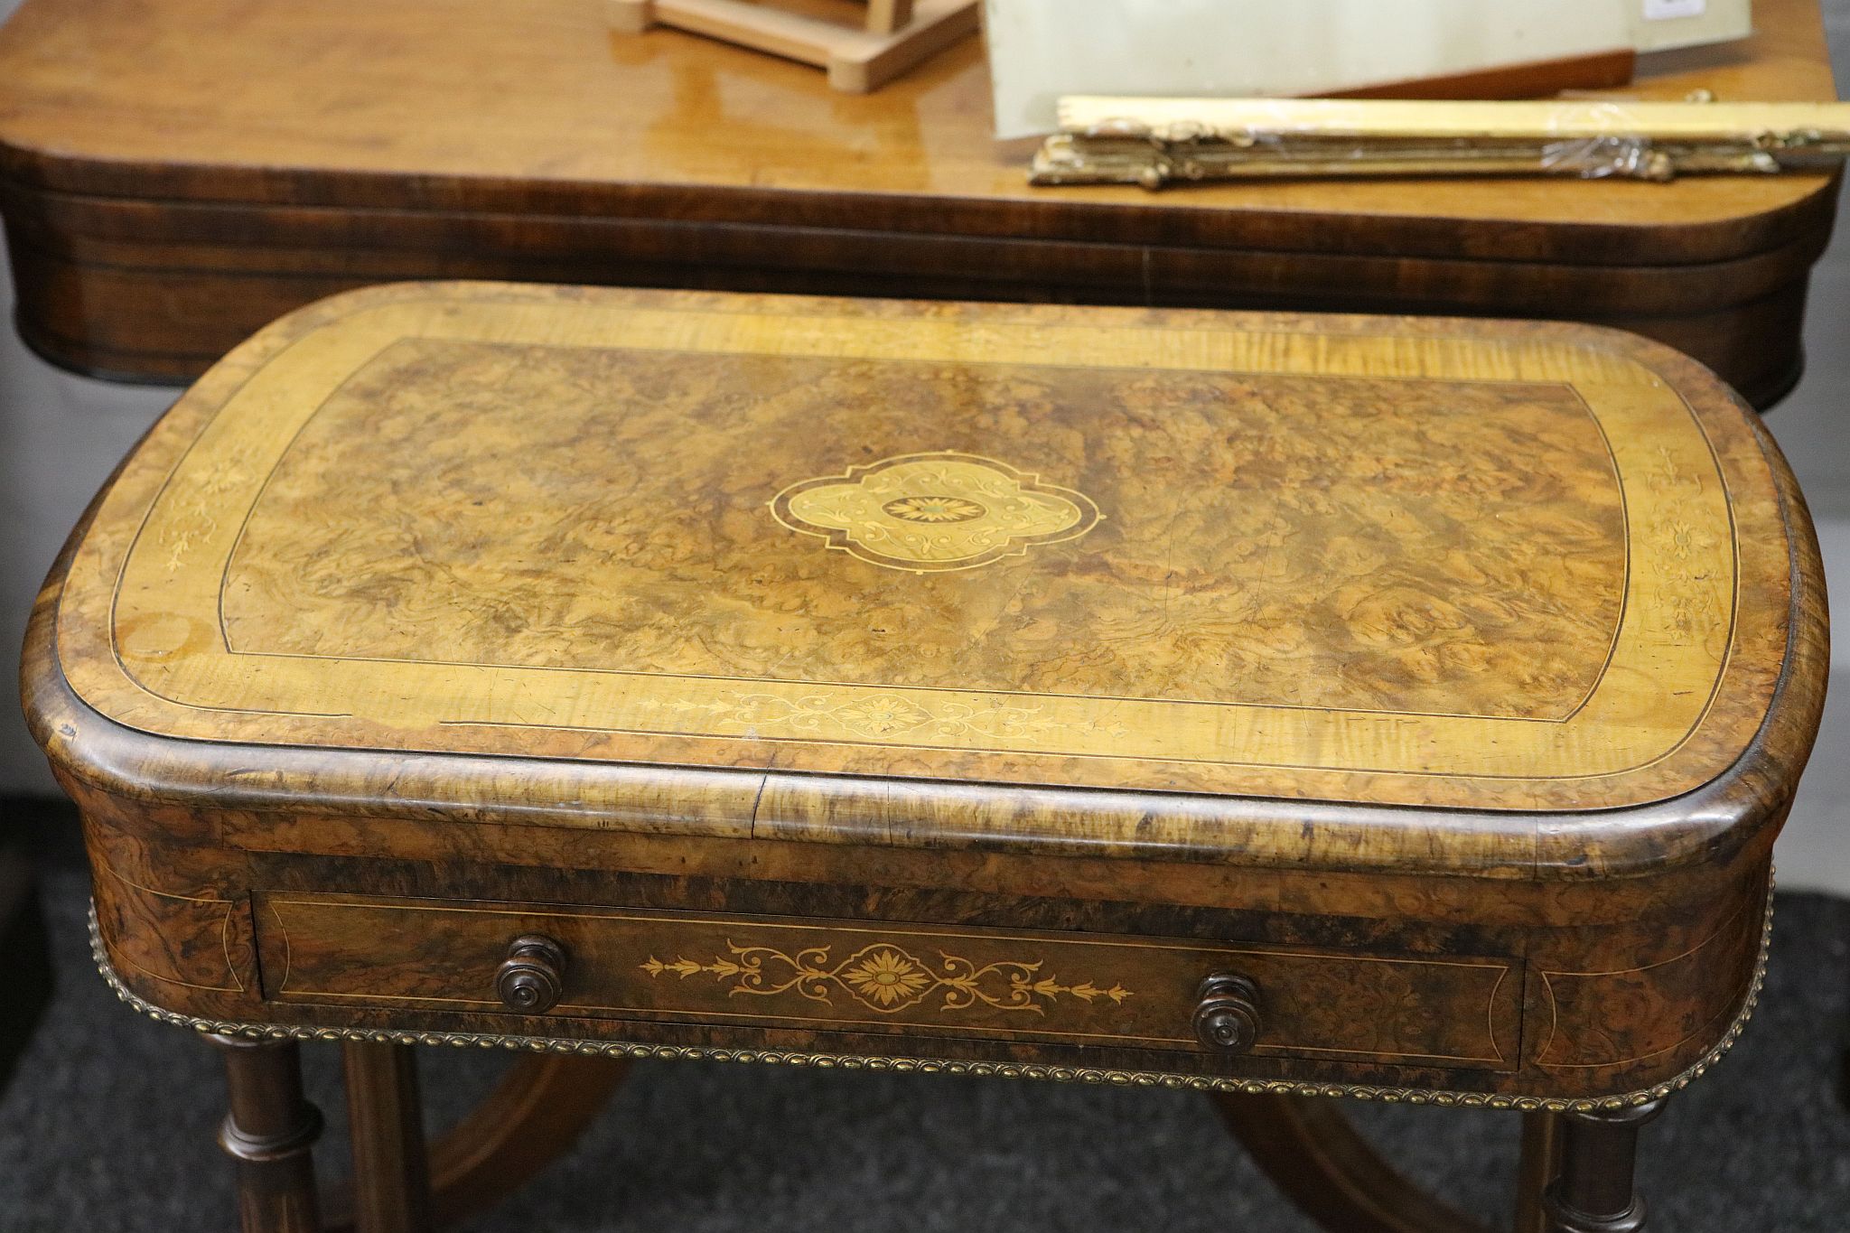
{"type": "Polygon", "coordinates": [[[1502,1070],[1523,989],[1487,956],[302,893],[259,897],[257,939],[266,998],[505,1013],[509,991],[535,1035],[574,1017],[1217,1052],[1201,1032],[1251,1009],[1254,1056],[1502,1070]],[[524,937],[544,941],[511,959],[524,937]],[[1208,989],[1202,1026],[1210,976],[1249,983],[1208,989]]]}

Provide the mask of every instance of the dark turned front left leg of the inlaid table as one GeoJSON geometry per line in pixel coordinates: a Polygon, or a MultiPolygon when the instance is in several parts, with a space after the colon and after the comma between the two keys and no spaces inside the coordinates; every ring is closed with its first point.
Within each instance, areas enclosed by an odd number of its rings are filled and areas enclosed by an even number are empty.
{"type": "Polygon", "coordinates": [[[207,1037],[224,1052],[229,1113],[218,1146],[237,1159],[244,1233],[320,1233],[311,1150],[322,1115],[302,1096],[294,1041],[207,1037]]]}

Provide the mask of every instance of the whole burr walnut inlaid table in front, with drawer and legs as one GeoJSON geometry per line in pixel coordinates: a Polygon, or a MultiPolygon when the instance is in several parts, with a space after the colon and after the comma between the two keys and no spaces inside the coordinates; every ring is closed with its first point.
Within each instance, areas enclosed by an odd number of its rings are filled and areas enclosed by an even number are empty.
{"type": "Polygon", "coordinates": [[[629,1057],[1526,1115],[1634,1229],[1819,725],[1793,477],[1584,325],[401,285],[235,349],[44,588],[96,954],[228,1052],[248,1229],[422,1229],[629,1057]],[[342,1041],[318,1200],[296,1041],[342,1041]],[[416,1044],[522,1050],[422,1141],[416,1044]]]}

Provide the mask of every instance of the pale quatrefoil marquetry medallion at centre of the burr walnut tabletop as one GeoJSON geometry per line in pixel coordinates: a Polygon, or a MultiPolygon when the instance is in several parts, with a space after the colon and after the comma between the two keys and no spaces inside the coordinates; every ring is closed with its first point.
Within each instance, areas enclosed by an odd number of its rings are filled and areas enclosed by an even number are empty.
{"type": "Polygon", "coordinates": [[[784,527],[886,569],[975,569],[1077,540],[1103,514],[1080,492],[980,455],[936,451],[851,466],[777,494],[784,527]]]}

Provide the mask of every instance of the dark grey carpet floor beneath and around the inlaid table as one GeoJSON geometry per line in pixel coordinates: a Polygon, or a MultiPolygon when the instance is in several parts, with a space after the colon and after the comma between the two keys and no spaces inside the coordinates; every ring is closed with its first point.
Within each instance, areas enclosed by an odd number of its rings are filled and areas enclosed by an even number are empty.
{"type": "MultiPolygon", "coordinates": [[[[0,1094],[0,1229],[229,1229],[211,1144],[209,1050],[144,1020],[91,967],[87,884],[54,873],[56,1002],[0,1094]]],[[[1761,1009],[1722,1065],[1645,1135],[1652,1229],[1850,1229],[1850,902],[1782,895],[1761,1009]]],[[[333,1046],[307,1046],[344,1144],[333,1046]]],[[[431,1050],[431,1120],[455,1117],[505,1057],[431,1050]]],[[[1354,1105],[1410,1174],[1502,1222],[1515,1117],[1354,1105]]],[[[466,1226],[555,1233],[892,1233],[1164,1229],[1291,1233],[1295,1216],[1199,1096],[1006,1080],[648,1063],[579,1148],[466,1226]]]]}

